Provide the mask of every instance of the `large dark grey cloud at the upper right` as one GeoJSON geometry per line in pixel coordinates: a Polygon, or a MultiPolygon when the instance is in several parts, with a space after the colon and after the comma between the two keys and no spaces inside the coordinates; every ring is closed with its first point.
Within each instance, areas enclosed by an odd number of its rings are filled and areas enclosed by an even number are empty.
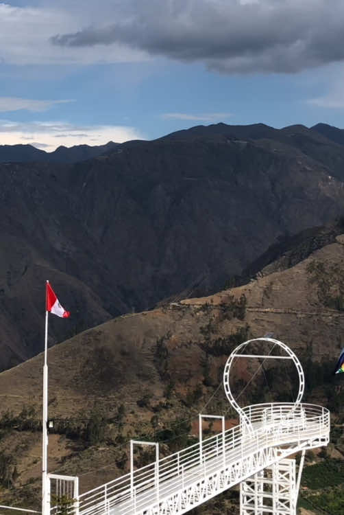
{"type": "Polygon", "coordinates": [[[52,43],[65,49],[120,44],[202,61],[222,73],[294,73],[344,60],[343,0],[117,0],[114,5],[101,23],[59,32],[52,43]]]}

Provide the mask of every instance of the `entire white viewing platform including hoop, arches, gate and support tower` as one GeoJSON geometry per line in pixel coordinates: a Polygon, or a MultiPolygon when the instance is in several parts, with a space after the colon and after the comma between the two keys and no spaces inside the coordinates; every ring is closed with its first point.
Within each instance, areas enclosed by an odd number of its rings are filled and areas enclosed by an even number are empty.
{"type": "MultiPolygon", "coordinates": [[[[181,515],[240,484],[241,515],[295,515],[305,451],[328,444],[330,412],[301,402],[302,366],[291,349],[275,339],[254,339],[236,347],[225,365],[223,384],[238,412],[238,426],[225,431],[223,415],[199,415],[199,442],[160,459],[157,443],[132,440],[130,472],[80,495],[76,477],[48,474],[49,501],[50,492],[69,496],[69,512],[75,515],[181,515]],[[271,346],[267,354],[245,354],[262,342],[271,346]],[[238,358],[293,361],[299,376],[297,400],[240,407],[230,388],[230,369],[238,358]],[[220,418],[221,433],[203,439],[203,417],[220,418]],[[134,470],[134,444],[155,446],[156,460],[134,470]],[[302,453],[297,473],[291,457],[296,453],[302,453]]],[[[50,504],[47,510],[51,515],[59,512],[50,504]]]]}

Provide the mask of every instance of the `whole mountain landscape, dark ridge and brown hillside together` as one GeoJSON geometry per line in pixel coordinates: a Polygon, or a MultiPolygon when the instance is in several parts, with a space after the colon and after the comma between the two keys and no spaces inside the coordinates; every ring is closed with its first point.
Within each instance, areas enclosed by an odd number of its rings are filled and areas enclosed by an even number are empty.
{"type": "MultiPolygon", "coordinates": [[[[128,470],[130,438],[164,456],[199,412],[235,424],[223,366],[271,332],[336,417],[326,456],[342,460],[343,130],[217,124],[77,155],[0,164],[1,501],[40,505],[45,279],[71,311],[49,322],[49,471],[82,492],[128,470]]],[[[295,397],[288,365],[255,372],[234,369],[243,404],[295,397]]]]}

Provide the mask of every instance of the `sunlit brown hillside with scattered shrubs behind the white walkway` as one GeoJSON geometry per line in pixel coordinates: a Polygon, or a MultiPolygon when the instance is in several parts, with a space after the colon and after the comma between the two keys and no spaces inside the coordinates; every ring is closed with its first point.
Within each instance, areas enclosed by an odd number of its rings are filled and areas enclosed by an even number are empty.
{"type": "MultiPolygon", "coordinates": [[[[332,372],[343,347],[343,277],[344,235],[291,268],[267,270],[210,297],[118,317],[54,346],[49,470],[79,475],[86,490],[127,470],[130,437],[158,439],[164,455],[195,441],[199,411],[226,413],[230,426],[235,413],[221,387],[223,365],[238,343],[267,332],[302,361],[305,399],[330,407],[341,422],[343,378],[332,372]]],[[[234,367],[242,404],[295,396],[293,370],[272,361],[243,391],[254,371],[254,363],[234,367]]],[[[32,507],[40,477],[41,377],[42,354],[0,374],[2,496],[10,500],[16,488],[16,499],[32,507]]],[[[344,450],[340,427],[330,451],[337,459],[344,450]]]]}

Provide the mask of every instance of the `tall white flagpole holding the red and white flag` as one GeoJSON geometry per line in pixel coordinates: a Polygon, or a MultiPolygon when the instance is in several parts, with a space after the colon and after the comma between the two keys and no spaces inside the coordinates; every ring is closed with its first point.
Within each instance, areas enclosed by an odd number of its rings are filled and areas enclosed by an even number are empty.
{"type": "MultiPolygon", "coordinates": [[[[47,281],[47,284],[49,281],[47,281]]],[[[48,514],[48,314],[47,284],[45,299],[45,352],[43,366],[43,415],[42,415],[42,515],[48,514]]]]}

